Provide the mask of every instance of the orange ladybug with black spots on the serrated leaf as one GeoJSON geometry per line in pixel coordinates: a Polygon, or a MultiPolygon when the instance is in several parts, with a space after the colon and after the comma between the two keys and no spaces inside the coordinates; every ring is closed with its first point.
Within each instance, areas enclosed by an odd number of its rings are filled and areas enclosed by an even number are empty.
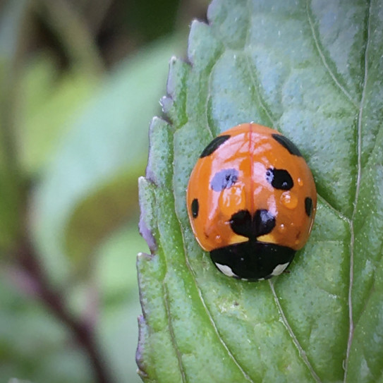
{"type": "Polygon", "coordinates": [[[308,241],[317,192],[293,142],[243,123],[202,151],[187,205],[195,238],[214,265],[227,276],[259,281],[284,272],[308,241]]]}

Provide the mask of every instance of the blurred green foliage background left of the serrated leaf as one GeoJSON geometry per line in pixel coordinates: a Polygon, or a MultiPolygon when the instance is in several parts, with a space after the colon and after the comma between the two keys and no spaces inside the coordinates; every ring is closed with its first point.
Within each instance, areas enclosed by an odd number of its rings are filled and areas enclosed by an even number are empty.
{"type": "Polygon", "coordinates": [[[93,329],[108,382],[140,381],[137,178],[169,59],[206,6],[0,6],[0,382],[101,381],[68,317],[93,329]]]}

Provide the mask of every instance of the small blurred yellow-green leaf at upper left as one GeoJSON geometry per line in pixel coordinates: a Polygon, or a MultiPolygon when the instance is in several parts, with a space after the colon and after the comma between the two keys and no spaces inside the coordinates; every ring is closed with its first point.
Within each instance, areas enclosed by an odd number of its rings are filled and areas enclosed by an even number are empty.
{"type": "Polygon", "coordinates": [[[61,138],[73,128],[68,121],[78,117],[97,92],[100,80],[79,68],[60,75],[57,63],[47,53],[28,60],[20,81],[24,102],[20,103],[18,133],[20,160],[29,174],[47,167],[61,138]]]}

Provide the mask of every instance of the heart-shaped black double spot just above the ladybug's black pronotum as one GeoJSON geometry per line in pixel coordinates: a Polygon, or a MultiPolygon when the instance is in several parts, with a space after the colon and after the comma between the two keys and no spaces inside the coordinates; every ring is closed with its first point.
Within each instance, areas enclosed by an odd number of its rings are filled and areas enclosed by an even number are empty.
{"type": "Polygon", "coordinates": [[[253,217],[248,210],[240,210],[231,216],[231,229],[239,236],[257,238],[274,229],[275,217],[266,209],[259,209],[253,217]]]}

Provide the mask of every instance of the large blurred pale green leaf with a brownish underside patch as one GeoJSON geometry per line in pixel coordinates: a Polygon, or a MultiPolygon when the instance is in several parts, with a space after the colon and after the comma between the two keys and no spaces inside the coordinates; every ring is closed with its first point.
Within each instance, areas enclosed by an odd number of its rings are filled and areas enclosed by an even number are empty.
{"type": "Polygon", "coordinates": [[[158,110],[179,39],[157,41],[107,76],[42,174],[32,229],[52,278],[65,280],[71,267],[90,269],[92,250],[137,203],[136,180],[147,159],[142,127],[158,110]]]}

